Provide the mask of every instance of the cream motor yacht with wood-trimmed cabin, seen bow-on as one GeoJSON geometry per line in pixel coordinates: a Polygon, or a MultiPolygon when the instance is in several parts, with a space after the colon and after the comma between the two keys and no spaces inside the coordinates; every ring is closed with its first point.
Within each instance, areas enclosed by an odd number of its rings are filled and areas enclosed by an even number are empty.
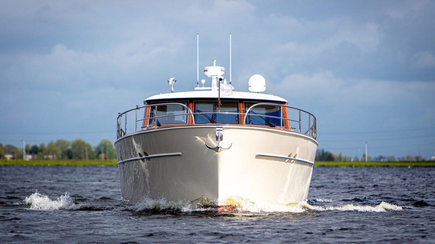
{"type": "Polygon", "coordinates": [[[261,75],[246,78],[249,92],[235,91],[224,71],[213,60],[204,68],[209,87],[205,80],[193,91],[172,87],[118,114],[123,201],[306,201],[318,145],[314,115],[264,93],[261,75]]]}

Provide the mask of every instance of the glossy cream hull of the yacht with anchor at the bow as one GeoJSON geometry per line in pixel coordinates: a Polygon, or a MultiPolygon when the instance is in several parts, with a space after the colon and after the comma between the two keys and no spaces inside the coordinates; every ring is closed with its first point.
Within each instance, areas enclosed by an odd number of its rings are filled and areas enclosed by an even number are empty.
{"type": "Polygon", "coordinates": [[[306,200],[311,164],[257,154],[313,162],[315,140],[274,129],[222,128],[221,146],[231,147],[220,152],[205,145],[216,146],[216,126],[150,130],[117,140],[122,199],[134,204],[144,196],[169,201],[206,197],[216,205],[234,198],[256,204],[306,200]],[[147,155],[156,157],[126,162],[147,155]]]}

